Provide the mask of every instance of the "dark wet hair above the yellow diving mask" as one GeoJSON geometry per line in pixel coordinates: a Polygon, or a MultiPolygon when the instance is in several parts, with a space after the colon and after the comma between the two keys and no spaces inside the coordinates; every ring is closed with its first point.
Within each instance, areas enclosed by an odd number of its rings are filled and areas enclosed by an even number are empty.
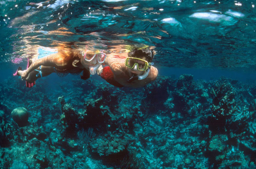
{"type": "Polygon", "coordinates": [[[136,58],[143,58],[145,57],[145,60],[147,62],[152,62],[154,57],[154,51],[153,49],[135,49],[128,53],[129,57],[136,57],[136,58]]]}

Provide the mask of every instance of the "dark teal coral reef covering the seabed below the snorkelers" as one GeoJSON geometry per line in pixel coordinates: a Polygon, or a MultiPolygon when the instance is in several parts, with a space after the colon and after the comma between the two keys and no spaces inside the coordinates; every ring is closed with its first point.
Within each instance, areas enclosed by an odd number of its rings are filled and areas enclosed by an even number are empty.
{"type": "Polygon", "coordinates": [[[69,80],[52,92],[40,80],[0,84],[0,168],[255,168],[256,85],[182,74],[138,89],[69,80]],[[26,126],[16,107],[29,110],[26,126]]]}

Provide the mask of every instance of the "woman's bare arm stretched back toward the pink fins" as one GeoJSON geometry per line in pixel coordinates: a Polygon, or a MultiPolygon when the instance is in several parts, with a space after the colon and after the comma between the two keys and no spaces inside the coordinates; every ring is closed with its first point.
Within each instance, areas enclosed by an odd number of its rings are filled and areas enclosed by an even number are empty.
{"type": "Polygon", "coordinates": [[[29,66],[29,68],[22,73],[21,78],[26,79],[31,71],[37,69],[40,66],[63,66],[65,65],[64,59],[65,57],[62,57],[60,53],[54,53],[46,57],[40,58],[38,60],[35,60],[29,66]]]}

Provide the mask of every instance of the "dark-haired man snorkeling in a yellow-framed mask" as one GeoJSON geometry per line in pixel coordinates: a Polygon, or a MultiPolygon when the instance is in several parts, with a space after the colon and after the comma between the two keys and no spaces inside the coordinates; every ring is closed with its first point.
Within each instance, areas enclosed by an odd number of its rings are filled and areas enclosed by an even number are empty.
{"type": "Polygon", "coordinates": [[[129,53],[109,54],[97,72],[108,83],[117,87],[143,87],[154,81],[158,70],[153,67],[154,51],[137,49],[129,53]]]}

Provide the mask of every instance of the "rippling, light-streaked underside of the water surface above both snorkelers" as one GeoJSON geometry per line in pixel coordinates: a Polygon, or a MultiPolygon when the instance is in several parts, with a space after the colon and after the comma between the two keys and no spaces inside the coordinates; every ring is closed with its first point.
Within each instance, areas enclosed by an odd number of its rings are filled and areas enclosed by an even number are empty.
{"type": "Polygon", "coordinates": [[[155,47],[157,66],[255,71],[254,1],[1,1],[1,62],[33,47],[155,47]],[[16,6],[17,5],[17,6],[16,6]]]}

